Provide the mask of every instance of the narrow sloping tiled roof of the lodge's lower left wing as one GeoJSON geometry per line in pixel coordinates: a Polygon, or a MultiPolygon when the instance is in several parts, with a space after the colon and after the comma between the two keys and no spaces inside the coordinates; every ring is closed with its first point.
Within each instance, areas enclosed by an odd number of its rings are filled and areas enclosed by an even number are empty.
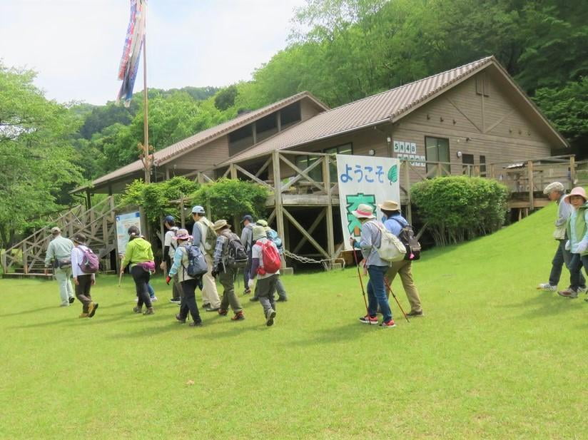
{"type": "MultiPolygon", "coordinates": [[[[226,135],[227,133],[230,133],[231,131],[235,131],[237,128],[245,126],[248,123],[256,121],[260,118],[263,118],[263,116],[266,116],[274,111],[279,110],[280,108],[295,103],[296,101],[300,101],[303,98],[308,98],[311,101],[313,101],[313,103],[315,103],[315,105],[319,108],[322,108],[323,110],[328,110],[328,107],[325,106],[325,104],[321,103],[317,98],[315,98],[315,96],[313,96],[312,93],[297,93],[293,96],[290,96],[289,98],[285,98],[281,101],[270,104],[269,106],[265,106],[263,108],[259,108],[258,110],[244,113],[243,115],[237,116],[236,118],[231,119],[230,121],[227,121],[225,123],[221,123],[218,126],[207,128],[206,130],[203,130],[200,133],[196,133],[195,135],[190,136],[189,138],[180,140],[179,142],[174,143],[173,145],[169,145],[168,147],[163,148],[162,150],[158,150],[155,153],[153,153],[155,162],[158,164],[158,166],[163,165],[169,162],[170,160],[177,158],[179,155],[187,153],[188,151],[191,151],[195,148],[198,148],[201,145],[210,142],[211,140],[226,135]]],[[[125,165],[122,168],[118,168],[118,170],[114,170],[111,173],[103,175],[101,178],[97,178],[92,182],[92,185],[101,185],[102,183],[106,183],[109,180],[123,178],[126,175],[137,173],[142,170],[143,163],[141,162],[141,160],[136,160],[135,162],[129,163],[128,165],[125,165]]],[[[81,189],[83,188],[77,188],[73,192],[77,192],[81,189]]]]}

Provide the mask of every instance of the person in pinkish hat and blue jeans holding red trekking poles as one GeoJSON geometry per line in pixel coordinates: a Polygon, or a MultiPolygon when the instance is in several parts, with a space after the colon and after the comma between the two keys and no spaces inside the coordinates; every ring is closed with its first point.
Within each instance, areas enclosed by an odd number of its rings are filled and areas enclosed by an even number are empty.
{"type": "MultiPolygon", "coordinates": [[[[361,249],[364,258],[364,275],[370,275],[370,281],[367,282],[367,314],[360,317],[360,321],[365,324],[377,325],[377,307],[380,306],[382,312],[381,327],[396,327],[392,319],[392,310],[386,296],[384,286],[384,277],[390,269],[390,263],[382,260],[377,253],[382,241],[382,231],[384,227],[380,222],[375,220],[374,208],[371,205],[361,203],[358,209],[353,211],[353,215],[361,222],[360,240],[349,237],[352,247],[361,249]]],[[[355,252],[355,251],[354,251],[355,252]]]]}

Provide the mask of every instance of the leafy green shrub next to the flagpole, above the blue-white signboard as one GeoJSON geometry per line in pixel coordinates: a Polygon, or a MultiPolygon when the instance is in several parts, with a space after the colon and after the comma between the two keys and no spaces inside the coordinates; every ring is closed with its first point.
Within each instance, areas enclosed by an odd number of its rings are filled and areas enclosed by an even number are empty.
{"type": "Polygon", "coordinates": [[[183,177],[175,177],[161,183],[143,183],[135,180],[127,185],[121,198],[123,205],[137,205],[143,207],[145,215],[152,225],[158,227],[159,220],[164,215],[180,218],[177,206],[172,206],[172,200],[193,193],[198,189],[198,183],[183,177]]]}

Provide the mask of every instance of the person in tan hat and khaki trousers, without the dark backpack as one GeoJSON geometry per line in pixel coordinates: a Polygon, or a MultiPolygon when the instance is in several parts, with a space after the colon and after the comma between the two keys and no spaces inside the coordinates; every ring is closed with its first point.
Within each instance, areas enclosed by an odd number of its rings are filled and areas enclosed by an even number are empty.
{"type": "MultiPolygon", "coordinates": [[[[402,217],[400,213],[400,205],[394,200],[386,200],[381,205],[377,205],[382,211],[384,218],[382,222],[387,230],[392,232],[400,238],[400,232],[402,228],[408,225],[408,221],[402,217]]],[[[392,281],[396,277],[396,274],[400,274],[400,280],[402,281],[402,287],[404,287],[408,302],[410,302],[410,312],[407,316],[410,317],[422,317],[422,306],[420,304],[420,297],[415,282],[412,280],[412,260],[400,260],[392,262],[390,268],[387,270],[386,277],[388,284],[391,286],[392,281]]],[[[386,290],[386,296],[390,298],[390,292],[386,290]]]]}

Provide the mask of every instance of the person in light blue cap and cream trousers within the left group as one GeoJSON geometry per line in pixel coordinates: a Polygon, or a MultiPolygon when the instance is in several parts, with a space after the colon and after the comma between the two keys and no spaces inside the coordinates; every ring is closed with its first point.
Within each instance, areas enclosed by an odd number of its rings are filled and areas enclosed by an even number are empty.
{"type": "Polygon", "coordinates": [[[206,218],[204,208],[196,205],[192,208],[192,219],[194,226],[192,228],[192,242],[200,246],[206,264],[208,265],[208,272],[203,278],[202,300],[203,309],[206,312],[216,312],[220,308],[220,299],[216,290],[216,282],[212,275],[213,270],[213,253],[216,246],[216,233],[211,230],[211,220],[206,218]]]}

